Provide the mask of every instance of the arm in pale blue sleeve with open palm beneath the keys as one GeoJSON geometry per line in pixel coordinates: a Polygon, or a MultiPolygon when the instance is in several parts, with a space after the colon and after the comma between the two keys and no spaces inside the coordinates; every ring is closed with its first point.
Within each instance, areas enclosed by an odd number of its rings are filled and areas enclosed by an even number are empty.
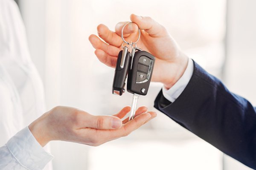
{"type": "Polygon", "coordinates": [[[122,121],[130,109],[125,107],[113,116],[93,116],[76,108],[55,107],[0,147],[0,169],[41,170],[53,158],[43,149],[49,141],[99,146],[127,136],[156,116],[155,112],[147,112],[146,107],[140,107],[133,120],[122,121]]]}

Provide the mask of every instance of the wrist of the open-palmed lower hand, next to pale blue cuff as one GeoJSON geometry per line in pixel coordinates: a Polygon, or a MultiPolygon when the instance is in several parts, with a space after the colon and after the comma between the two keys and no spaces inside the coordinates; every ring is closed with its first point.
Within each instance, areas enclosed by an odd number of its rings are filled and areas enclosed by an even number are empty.
{"type": "Polygon", "coordinates": [[[42,147],[51,141],[49,130],[47,129],[48,126],[46,117],[47,113],[44,113],[44,115],[29,125],[30,132],[42,147]]]}

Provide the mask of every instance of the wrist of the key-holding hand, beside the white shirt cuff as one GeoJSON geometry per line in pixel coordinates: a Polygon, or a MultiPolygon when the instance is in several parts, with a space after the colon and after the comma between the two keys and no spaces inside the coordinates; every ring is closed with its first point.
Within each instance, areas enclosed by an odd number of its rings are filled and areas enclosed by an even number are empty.
{"type": "Polygon", "coordinates": [[[180,77],[183,76],[184,72],[186,71],[188,62],[189,58],[182,52],[180,53],[179,57],[175,59],[175,61],[170,62],[168,67],[169,71],[167,71],[170,73],[170,75],[166,76],[162,82],[167,90],[172,88],[172,86],[175,85],[180,77]]]}

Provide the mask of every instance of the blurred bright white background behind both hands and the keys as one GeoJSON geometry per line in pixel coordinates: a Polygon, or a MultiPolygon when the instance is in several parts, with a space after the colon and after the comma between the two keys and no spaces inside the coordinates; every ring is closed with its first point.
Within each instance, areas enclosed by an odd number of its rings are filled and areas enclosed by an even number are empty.
{"type": "MultiPolygon", "coordinates": [[[[112,68],[88,41],[100,23],[112,30],[129,15],[150,16],[180,47],[227,87],[256,105],[255,0],[17,0],[32,60],[43,79],[47,109],[78,107],[113,114],[131,94],[111,93],[112,68]]],[[[138,105],[154,110],[162,85],[151,83],[138,105]]],[[[248,170],[163,113],[130,136],[89,147],[51,142],[55,170],[248,170]]]]}

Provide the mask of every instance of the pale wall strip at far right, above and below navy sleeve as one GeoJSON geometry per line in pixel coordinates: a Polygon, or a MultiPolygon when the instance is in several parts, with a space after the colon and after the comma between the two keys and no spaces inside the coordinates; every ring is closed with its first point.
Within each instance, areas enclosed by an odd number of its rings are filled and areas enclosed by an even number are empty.
{"type": "MultiPolygon", "coordinates": [[[[255,0],[228,0],[225,69],[225,82],[230,91],[245,97],[253,105],[256,105],[255,7],[255,0]]],[[[224,157],[224,170],[248,169],[238,161],[224,157]]]]}

